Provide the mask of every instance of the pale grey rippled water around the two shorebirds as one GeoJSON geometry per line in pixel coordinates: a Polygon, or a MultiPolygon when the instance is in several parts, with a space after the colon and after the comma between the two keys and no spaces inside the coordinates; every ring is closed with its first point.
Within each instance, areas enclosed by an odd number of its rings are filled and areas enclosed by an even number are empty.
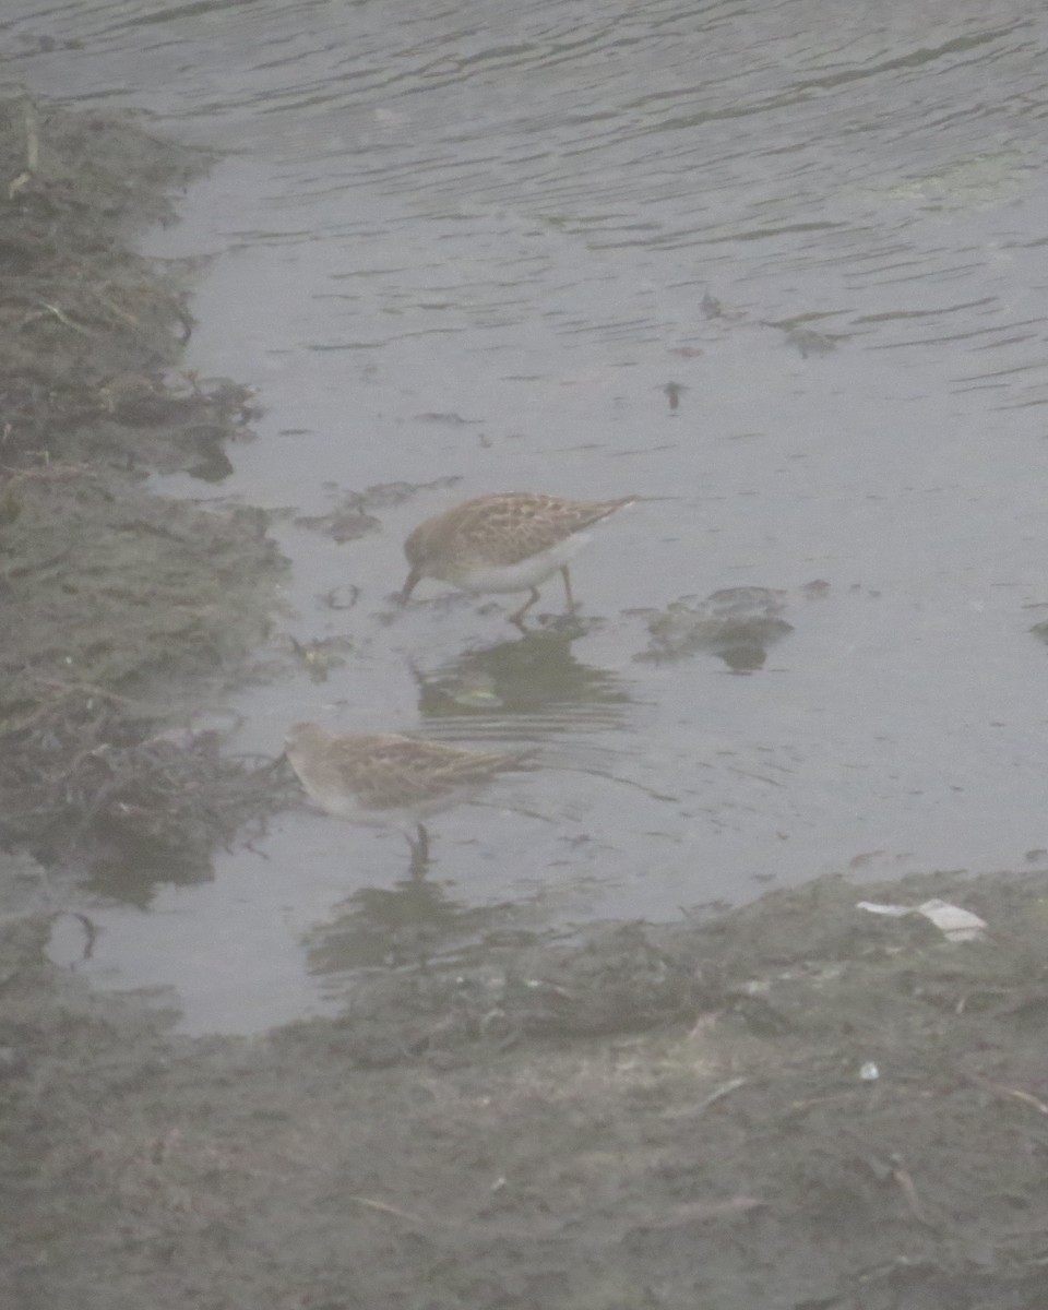
{"type": "Polygon", "coordinates": [[[0,31],[10,79],[229,152],[151,249],[214,255],[189,364],[266,413],[223,486],[164,490],[308,516],[458,479],[355,541],[278,528],[287,630],[354,652],[244,693],[240,745],[316,717],[563,766],[438,819],[423,891],[394,833],[279,816],[214,883],[92,905],[85,968],[253,1028],[398,914],[453,943],[1048,846],[1047,12],[8,0],[0,31]],[[390,604],[409,528],[499,489],[651,498],[580,559],[578,641],[390,604]],[[637,660],[641,610],[740,586],[787,593],[760,672],[637,660]]]}

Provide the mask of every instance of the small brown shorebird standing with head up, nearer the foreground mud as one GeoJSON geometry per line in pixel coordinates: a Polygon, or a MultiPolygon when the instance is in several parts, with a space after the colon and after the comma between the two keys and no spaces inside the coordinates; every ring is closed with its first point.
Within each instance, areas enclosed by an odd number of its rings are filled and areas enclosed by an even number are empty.
{"type": "Polygon", "coordinates": [[[423,819],[473,799],[499,773],[531,769],[531,751],[466,751],[396,732],[335,736],[296,723],[284,739],[299,781],[321,810],[367,827],[411,824],[411,850],[424,865],[423,819]]]}

